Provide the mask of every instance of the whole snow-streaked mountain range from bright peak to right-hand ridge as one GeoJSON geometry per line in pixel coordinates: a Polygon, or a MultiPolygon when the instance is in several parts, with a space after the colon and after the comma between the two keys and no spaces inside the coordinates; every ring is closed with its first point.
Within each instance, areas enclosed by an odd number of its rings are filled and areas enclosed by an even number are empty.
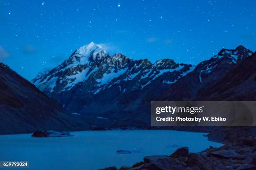
{"type": "MultiPolygon", "coordinates": [[[[238,46],[223,49],[197,66],[171,59],[151,63],[120,53],[109,55],[91,42],[41,76],[36,85],[70,113],[122,120],[115,122],[118,127],[143,126],[150,122],[145,114],[151,100],[193,100],[251,54],[238,46]]],[[[105,127],[94,127],[98,126],[105,127]]]]}

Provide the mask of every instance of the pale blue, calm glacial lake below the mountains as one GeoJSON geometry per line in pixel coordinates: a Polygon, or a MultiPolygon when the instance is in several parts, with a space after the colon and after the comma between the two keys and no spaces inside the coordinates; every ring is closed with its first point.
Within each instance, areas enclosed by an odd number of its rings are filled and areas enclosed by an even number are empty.
{"type": "MultiPolygon", "coordinates": [[[[131,166],[146,155],[171,155],[183,146],[194,153],[222,145],[208,141],[203,136],[205,133],[172,130],[80,131],[71,134],[74,137],[0,135],[0,161],[29,161],[29,170],[97,170],[131,166]],[[116,153],[133,148],[141,153],[116,153]]],[[[11,169],[18,168],[8,168],[11,169]]]]}

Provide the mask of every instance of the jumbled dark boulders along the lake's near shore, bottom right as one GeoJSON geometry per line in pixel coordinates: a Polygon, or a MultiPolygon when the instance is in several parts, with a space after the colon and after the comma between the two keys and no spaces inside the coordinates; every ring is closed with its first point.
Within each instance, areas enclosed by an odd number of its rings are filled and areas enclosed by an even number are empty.
{"type": "Polygon", "coordinates": [[[183,147],[170,156],[146,156],[142,163],[125,170],[256,170],[256,149],[251,145],[255,139],[248,137],[199,153],[189,153],[188,148],[183,147]],[[243,145],[244,141],[250,142],[243,145]]]}

